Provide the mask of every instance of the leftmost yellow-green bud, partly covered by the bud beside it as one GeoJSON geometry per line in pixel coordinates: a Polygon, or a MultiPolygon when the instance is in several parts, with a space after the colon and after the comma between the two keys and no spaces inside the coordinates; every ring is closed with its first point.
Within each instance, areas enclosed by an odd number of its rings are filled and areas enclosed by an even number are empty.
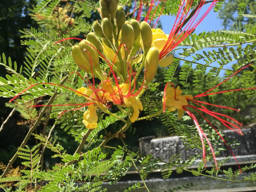
{"type": "Polygon", "coordinates": [[[78,45],[74,45],[72,47],[71,51],[72,58],[76,65],[83,69],[85,72],[90,73],[90,68],[89,68],[89,63],[88,61],[84,58],[82,51],[78,45]]]}

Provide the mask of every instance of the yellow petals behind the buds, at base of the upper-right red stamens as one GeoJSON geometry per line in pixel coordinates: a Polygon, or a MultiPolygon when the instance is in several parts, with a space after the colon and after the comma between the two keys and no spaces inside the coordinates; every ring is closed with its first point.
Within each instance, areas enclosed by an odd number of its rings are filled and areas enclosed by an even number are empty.
{"type": "MultiPolygon", "coordinates": [[[[162,31],[162,29],[159,29],[159,28],[157,29],[153,28],[151,30],[153,35],[152,47],[153,46],[156,47],[160,53],[164,48],[164,45],[167,43],[169,35],[166,35],[164,31],[162,31]]],[[[172,64],[172,61],[173,61],[173,55],[169,55],[161,59],[158,64],[161,67],[167,67],[170,64],[172,64]]]]}

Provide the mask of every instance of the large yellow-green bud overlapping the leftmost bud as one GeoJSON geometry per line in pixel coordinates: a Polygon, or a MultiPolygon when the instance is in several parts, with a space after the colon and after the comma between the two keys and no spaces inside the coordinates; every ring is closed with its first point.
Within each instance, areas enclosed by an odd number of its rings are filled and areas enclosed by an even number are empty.
{"type": "Polygon", "coordinates": [[[90,42],[84,39],[83,41],[80,41],[79,47],[82,51],[84,58],[87,59],[90,69],[91,62],[92,68],[96,70],[100,69],[99,53],[92,48],[90,42]]]}

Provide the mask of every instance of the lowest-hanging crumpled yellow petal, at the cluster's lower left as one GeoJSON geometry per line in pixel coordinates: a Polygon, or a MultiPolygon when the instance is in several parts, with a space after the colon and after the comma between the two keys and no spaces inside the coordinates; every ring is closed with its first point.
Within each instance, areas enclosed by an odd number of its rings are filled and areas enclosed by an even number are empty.
{"type": "Polygon", "coordinates": [[[89,105],[84,112],[83,124],[87,129],[94,129],[97,127],[98,116],[96,113],[97,106],[89,105]]]}

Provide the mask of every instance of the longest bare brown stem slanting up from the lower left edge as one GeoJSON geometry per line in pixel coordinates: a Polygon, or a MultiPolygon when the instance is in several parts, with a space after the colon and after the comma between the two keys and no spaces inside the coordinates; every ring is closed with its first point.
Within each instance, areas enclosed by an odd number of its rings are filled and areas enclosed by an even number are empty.
{"type": "MultiPolygon", "coordinates": [[[[64,77],[64,79],[60,82],[60,84],[63,84],[67,79],[68,79],[69,75],[66,75],[64,77]]],[[[48,101],[47,105],[52,104],[52,102],[55,100],[56,96],[58,95],[58,93],[54,93],[52,95],[52,97],[50,98],[50,100],[48,101]]],[[[49,107],[44,107],[43,110],[40,112],[36,122],[34,123],[34,125],[29,129],[25,139],[22,141],[22,143],[20,144],[20,148],[24,148],[24,146],[26,145],[26,143],[28,142],[28,139],[30,138],[31,134],[35,131],[37,125],[41,122],[42,117],[44,116],[44,113],[46,112],[46,110],[49,107]]],[[[13,162],[17,159],[18,152],[20,152],[20,150],[18,149],[17,152],[14,154],[14,156],[12,157],[12,159],[9,161],[8,165],[6,166],[3,174],[1,175],[1,178],[5,177],[5,175],[8,173],[9,169],[11,168],[13,162]]]]}

